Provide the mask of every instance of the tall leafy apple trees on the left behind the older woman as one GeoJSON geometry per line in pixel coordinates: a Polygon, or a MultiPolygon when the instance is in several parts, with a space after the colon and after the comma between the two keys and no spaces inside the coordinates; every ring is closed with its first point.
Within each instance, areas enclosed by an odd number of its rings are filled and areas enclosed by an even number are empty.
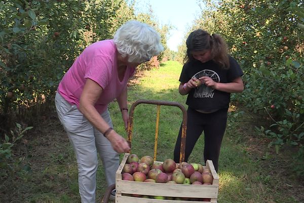
{"type": "Polygon", "coordinates": [[[166,42],[168,30],[150,14],[135,15],[133,1],[0,1],[0,126],[40,119],[47,112],[42,104],[53,105],[59,81],[82,50],[112,38],[130,19],[164,30],[166,42]]]}

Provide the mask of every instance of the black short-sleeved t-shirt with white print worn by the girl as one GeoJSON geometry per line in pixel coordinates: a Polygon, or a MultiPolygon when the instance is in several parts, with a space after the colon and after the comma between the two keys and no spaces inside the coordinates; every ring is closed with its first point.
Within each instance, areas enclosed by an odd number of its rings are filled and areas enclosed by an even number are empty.
{"type": "MultiPolygon", "coordinates": [[[[199,60],[189,61],[183,65],[179,81],[188,82],[193,76],[197,78],[208,76],[215,82],[229,83],[234,79],[243,76],[238,62],[229,56],[230,68],[222,69],[213,60],[202,63],[199,60]]],[[[186,105],[192,109],[211,112],[214,110],[229,108],[230,93],[218,91],[205,84],[189,91],[186,105]]]]}

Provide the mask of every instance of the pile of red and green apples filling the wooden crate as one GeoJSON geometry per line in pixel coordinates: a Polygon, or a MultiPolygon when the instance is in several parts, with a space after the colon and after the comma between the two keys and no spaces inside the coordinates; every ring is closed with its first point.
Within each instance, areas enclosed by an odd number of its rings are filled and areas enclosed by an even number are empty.
{"type": "Polygon", "coordinates": [[[200,163],[175,163],[166,159],[163,163],[154,162],[151,156],[130,154],[122,170],[126,181],[212,185],[213,176],[209,168],[200,163]]]}

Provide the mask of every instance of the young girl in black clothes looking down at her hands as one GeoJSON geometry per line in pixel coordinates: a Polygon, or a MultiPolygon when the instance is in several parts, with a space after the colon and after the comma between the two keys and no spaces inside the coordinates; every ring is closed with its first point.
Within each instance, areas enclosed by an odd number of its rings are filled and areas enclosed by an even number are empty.
{"type": "MultiPolygon", "coordinates": [[[[227,45],[217,34],[202,29],[190,33],[186,40],[187,55],[179,77],[178,91],[186,95],[187,130],[185,160],[188,160],[197,140],[204,132],[204,159],[212,160],[218,171],[218,157],[226,128],[230,93],[244,89],[242,70],[227,54],[227,45]]],[[[181,127],[174,149],[179,162],[181,127]]]]}

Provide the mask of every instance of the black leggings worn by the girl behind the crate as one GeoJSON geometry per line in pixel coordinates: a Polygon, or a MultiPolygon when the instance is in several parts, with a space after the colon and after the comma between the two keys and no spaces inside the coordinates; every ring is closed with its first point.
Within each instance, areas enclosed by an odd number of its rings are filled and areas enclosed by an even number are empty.
{"type": "MultiPolygon", "coordinates": [[[[226,128],[226,123],[227,109],[221,109],[214,113],[204,114],[188,108],[184,161],[188,160],[196,142],[204,131],[204,161],[206,163],[207,160],[212,160],[217,172],[219,151],[226,128]]],[[[174,161],[176,163],[179,163],[181,129],[182,127],[180,126],[174,149],[174,161]]]]}

